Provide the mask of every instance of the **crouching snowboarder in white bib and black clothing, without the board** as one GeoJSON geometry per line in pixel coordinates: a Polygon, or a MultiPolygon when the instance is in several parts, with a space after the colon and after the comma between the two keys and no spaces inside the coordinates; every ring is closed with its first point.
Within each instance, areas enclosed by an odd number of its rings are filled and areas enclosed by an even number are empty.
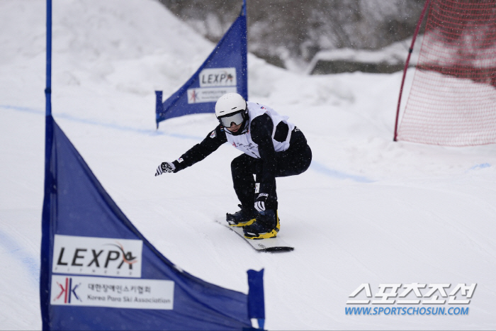
{"type": "Polygon", "coordinates": [[[242,226],[244,237],[276,237],[280,229],[276,177],[305,172],[312,151],[303,133],[274,109],[228,93],[215,103],[220,124],[174,162],[162,162],[155,176],[179,172],[205,159],[229,142],[244,152],[231,162],[232,181],[240,211],[226,214],[230,226],[242,226]],[[255,179],[254,176],[255,175],[255,179]]]}

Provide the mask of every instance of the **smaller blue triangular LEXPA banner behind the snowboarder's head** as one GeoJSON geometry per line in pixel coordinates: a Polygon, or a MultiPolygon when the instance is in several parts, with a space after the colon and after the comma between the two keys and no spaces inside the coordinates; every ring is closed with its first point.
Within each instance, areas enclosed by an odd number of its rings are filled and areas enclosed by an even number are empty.
{"type": "Polygon", "coordinates": [[[163,103],[162,91],[156,92],[157,128],[167,118],[213,113],[220,96],[231,92],[248,99],[245,1],[236,21],[188,82],[163,103]]]}

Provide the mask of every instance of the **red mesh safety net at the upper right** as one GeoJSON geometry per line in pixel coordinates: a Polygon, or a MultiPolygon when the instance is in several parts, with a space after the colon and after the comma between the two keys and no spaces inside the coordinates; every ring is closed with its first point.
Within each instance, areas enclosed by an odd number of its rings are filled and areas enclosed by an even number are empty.
{"type": "Polygon", "coordinates": [[[496,0],[432,0],[397,140],[496,142],[496,0]]]}

